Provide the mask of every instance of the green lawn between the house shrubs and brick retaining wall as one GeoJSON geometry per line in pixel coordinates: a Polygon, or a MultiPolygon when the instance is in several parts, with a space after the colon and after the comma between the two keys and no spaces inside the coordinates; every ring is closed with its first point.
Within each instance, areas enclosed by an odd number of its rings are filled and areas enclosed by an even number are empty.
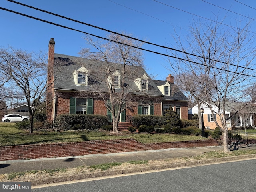
{"type": "Polygon", "coordinates": [[[133,138],[142,143],[186,141],[206,139],[201,136],[190,136],[182,134],[122,134],[112,135],[111,132],[87,132],[87,131],[66,131],[66,132],[37,132],[29,134],[27,130],[18,130],[14,123],[0,123],[0,146],[37,144],[37,143],[59,143],[78,142],[90,140],[109,140],[119,138],[133,138]]]}

